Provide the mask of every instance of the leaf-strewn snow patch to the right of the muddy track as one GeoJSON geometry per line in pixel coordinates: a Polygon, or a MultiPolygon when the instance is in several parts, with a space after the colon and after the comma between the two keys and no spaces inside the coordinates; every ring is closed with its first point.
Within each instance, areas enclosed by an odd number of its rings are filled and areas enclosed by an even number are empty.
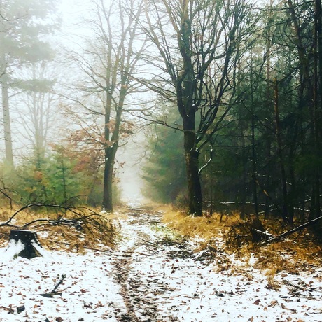
{"type": "Polygon", "coordinates": [[[322,269],[315,277],[279,274],[279,290],[255,269],[243,275],[230,269],[216,272],[216,264],[204,267],[192,259],[169,260],[160,254],[135,262],[132,272],[149,272],[167,286],[156,299],[160,321],[322,321],[322,269]],[[294,281],[297,294],[283,283],[287,279],[294,281]]]}

